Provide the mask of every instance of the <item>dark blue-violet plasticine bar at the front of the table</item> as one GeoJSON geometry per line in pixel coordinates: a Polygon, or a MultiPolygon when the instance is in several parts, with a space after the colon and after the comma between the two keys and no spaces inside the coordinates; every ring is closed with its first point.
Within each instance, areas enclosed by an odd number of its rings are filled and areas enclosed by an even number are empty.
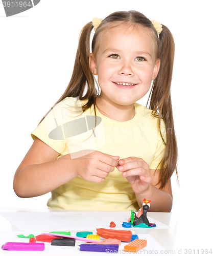
{"type": "Polygon", "coordinates": [[[115,253],[119,251],[118,244],[80,244],[80,251],[100,251],[115,253]]]}

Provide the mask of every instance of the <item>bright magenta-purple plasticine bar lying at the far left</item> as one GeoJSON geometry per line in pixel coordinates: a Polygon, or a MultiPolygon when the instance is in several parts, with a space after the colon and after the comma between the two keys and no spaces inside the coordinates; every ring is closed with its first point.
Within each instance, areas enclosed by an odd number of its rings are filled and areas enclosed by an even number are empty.
{"type": "Polygon", "coordinates": [[[2,249],[9,251],[43,251],[44,243],[8,242],[3,244],[2,249]]]}

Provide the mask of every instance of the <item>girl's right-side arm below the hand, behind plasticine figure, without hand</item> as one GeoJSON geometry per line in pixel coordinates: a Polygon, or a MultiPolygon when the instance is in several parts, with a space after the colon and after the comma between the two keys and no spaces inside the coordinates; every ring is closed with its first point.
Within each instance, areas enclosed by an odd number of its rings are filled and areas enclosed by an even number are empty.
{"type": "Polygon", "coordinates": [[[155,173],[155,170],[150,169],[152,183],[143,194],[135,193],[135,196],[140,207],[142,207],[144,198],[146,198],[151,200],[149,211],[170,212],[173,201],[171,179],[162,189],[159,189],[160,185],[156,185],[159,180],[159,172],[160,170],[156,170],[155,173]]]}

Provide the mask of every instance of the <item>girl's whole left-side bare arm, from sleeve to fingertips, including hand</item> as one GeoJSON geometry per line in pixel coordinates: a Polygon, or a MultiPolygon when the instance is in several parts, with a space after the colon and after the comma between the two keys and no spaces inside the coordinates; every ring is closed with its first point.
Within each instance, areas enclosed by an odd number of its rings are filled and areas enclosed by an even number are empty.
{"type": "Polygon", "coordinates": [[[37,197],[49,193],[66,182],[81,176],[102,182],[118,164],[118,156],[94,151],[71,159],[70,154],[56,159],[59,153],[38,138],[18,166],[13,188],[18,197],[37,197]]]}

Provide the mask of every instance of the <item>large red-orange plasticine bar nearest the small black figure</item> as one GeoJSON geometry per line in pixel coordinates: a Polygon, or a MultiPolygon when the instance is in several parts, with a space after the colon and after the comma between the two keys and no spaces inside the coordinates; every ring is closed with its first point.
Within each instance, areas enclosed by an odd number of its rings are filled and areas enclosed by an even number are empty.
{"type": "Polygon", "coordinates": [[[115,238],[122,242],[130,242],[132,238],[132,232],[130,230],[114,230],[106,228],[97,228],[97,234],[105,239],[115,238]]]}

